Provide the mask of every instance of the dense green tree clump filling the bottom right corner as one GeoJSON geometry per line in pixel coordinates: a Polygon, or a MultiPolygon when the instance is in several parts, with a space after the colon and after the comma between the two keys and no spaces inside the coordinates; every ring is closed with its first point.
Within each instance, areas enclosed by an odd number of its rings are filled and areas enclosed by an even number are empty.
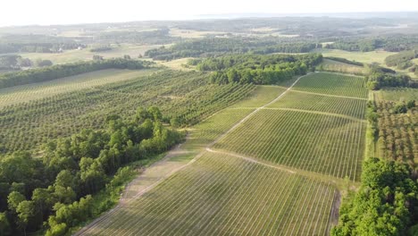
{"type": "Polygon", "coordinates": [[[417,235],[418,185],[407,164],[371,157],[364,161],[362,183],[339,209],[331,235],[417,235]]]}

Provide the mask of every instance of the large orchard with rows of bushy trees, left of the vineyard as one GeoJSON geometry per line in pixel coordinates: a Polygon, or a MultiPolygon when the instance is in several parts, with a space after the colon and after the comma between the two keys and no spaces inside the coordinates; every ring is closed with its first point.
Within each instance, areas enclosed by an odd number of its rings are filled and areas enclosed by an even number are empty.
{"type": "MultiPolygon", "coordinates": [[[[119,79],[121,80],[121,79],[119,79]]],[[[63,80],[66,83],[67,80],[63,80]]],[[[194,124],[214,112],[247,97],[253,85],[212,85],[200,72],[157,72],[130,80],[92,86],[24,102],[20,93],[10,94],[14,105],[0,108],[0,151],[3,153],[38,147],[48,139],[66,137],[82,129],[103,128],[107,115],[132,119],[138,106],[157,105],[167,122],[177,117],[194,124]],[[19,104],[16,104],[20,102],[19,104]]],[[[33,84],[37,88],[38,84],[33,84]]],[[[74,87],[79,84],[74,84],[74,87]]],[[[30,86],[23,94],[30,97],[30,86]]],[[[42,88],[42,86],[41,86],[42,88]]],[[[46,87],[66,89],[53,82],[46,87]]]]}

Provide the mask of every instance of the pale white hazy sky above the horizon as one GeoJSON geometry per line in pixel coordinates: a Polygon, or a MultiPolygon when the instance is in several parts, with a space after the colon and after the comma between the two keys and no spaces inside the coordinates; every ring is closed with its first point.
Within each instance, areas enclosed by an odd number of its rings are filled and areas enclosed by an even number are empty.
{"type": "Polygon", "coordinates": [[[1,0],[0,26],[187,20],[223,13],[418,11],[418,0],[1,0]]]}

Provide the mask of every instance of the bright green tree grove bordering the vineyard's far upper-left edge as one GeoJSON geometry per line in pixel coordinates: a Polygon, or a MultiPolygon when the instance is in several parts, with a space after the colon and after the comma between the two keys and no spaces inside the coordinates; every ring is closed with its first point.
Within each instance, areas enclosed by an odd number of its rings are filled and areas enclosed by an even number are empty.
{"type": "Polygon", "coordinates": [[[210,81],[217,84],[277,84],[312,71],[321,62],[321,54],[229,55],[205,59],[196,68],[213,71],[210,81]]]}

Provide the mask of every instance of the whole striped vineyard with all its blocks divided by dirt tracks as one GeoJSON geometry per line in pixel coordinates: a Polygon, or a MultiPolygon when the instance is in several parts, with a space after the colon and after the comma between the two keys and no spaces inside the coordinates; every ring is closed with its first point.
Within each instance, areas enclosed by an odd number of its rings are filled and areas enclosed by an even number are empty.
{"type": "MultiPolygon", "coordinates": [[[[338,74],[320,75],[308,75],[298,82],[347,79],[338,74]]],[[[344,86],[353,84],[357,83],[344,86]]],[[[117,231],[122,235],[323,235],[329,232],[330,222],[334,221],[331,216],[333,203],[338,198],[338,190],[330,183],[334,179],[331,176],[349,176],[357,180],[360,172],[366,100],[322,96],[324,99],[340,98],[342,114],[331,114],[337,110],[335,107],[326,110],[330,114],[276,110],[282,102],[288,105],[295,98],[292,94],[319,96],[292,89],[277,99],[284,91],[285,88],[279,86],[257,86],[250,97],[193,126],[182,146],[183,151],[175,157],[184,164],[179,172],[169,175],[137,198],[123,201],[112,213],[79,234],[103,235],[117,231]],[[351,100],[358,104],[350,103],[351,100]],[[350,110],[353,114],[347,113],[350,110]],[[297,122],[306,127],[292,124],[297,122]],[[281,123],[280,128],[277,125],[281,123]],[[314,128],[310,129],[307,124],[314,128]],[[319,133],[321,139],[317,139],[319,133]],[[280,141],[283,137],[301,141],[288,144],[280,141]],[[273,139],[271,143],[267,142],[269,139],[273,139]],[[268,153],[278,149],[273,142],[284,143],[289,152],[305,150],[305,154],[315,152],[316,145],[316,152],[322,152],[322,156],[316,155],[311,161],[300,157],[304,156],[302,153],[298,154],[298,162],[297,156],[288,157],[287,163],[259,162],[256,153],[242,151],[239,153],[246,156],[240,156],[231,148],[240,144],[241,151],[263,145],[260,149],[268,153]],[[221,148],[225,143],[227,148],[221,148]],[[325,155],[325,151],[330,154],[325,155]],[[181,156],[186,160],[192,158],[192,161],[185,164],[181,156]],[[291,163],[291,160],[296,161],[291,163]],[[315,160],[322,163],[315,164],[315,160]],[[315,173],[310,171],[331,176],[315,178],[315,173]]],[[[322,106],[321,99],[312,103],[322,106]]]]}

